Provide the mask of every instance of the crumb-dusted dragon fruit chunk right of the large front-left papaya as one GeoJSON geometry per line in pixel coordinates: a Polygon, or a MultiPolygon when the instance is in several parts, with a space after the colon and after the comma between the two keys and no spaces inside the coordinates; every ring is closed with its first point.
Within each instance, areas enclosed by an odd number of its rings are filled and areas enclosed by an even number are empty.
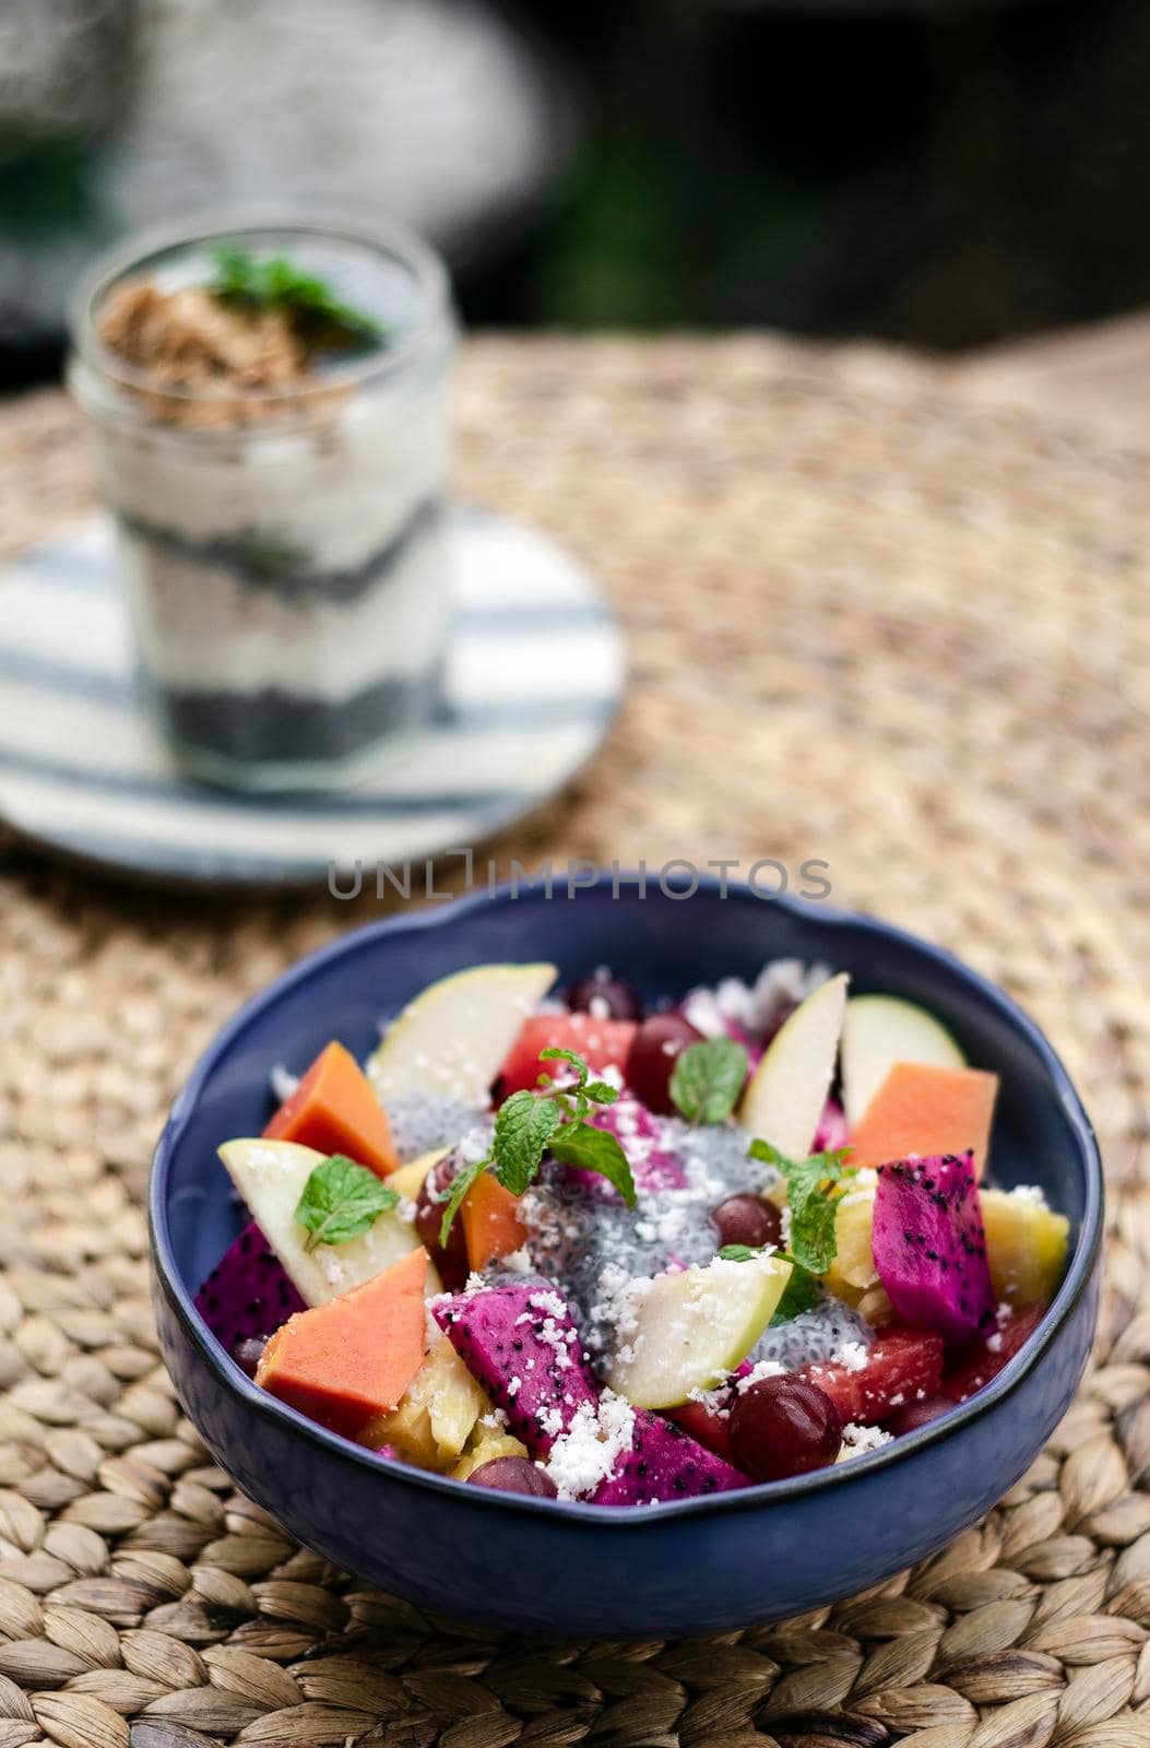
{"type": "Polygon", "coordinates": [[[435,1321],[531,1456],[547,1456],[598,1391],[563,1294],[503,1281],[432,1304],[435,1321]]]}

